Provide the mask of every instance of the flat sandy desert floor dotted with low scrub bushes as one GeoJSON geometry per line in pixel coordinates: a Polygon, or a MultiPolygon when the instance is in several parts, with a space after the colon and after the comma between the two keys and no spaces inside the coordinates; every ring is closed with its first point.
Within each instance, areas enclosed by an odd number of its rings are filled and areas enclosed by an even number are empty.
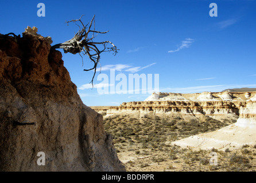
{"type": "MultiPolygon", "coordinates": [[[[208,116],[114,114],[104,117],[104,128],[113,136],[119,160],[127,171],[255,171],[256,144],[218,150],[184,148],[172,142],[215,132],[236,120],[208,116]]],[[[238,118],[238,117],[237,117],[238,118]]]]}

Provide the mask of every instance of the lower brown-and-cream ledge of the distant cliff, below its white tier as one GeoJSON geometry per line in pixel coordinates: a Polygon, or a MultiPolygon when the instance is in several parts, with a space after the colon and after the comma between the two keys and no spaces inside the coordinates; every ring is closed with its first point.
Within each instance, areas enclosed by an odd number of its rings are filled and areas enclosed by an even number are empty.
{"type": "MultiPolygon", "coordinates": [[[[229,101],[204,101],[204,102],[184,102],[184,101],[140,101],[123,102],[120,106],[108,106],[104,110],[106,114],[122,112],[154,112],[154,113],[181,113],[181,114],[203,114],[208,116],[218,116],[221,114],[239,115],[239,108],[245,106],[245,102],[229,101]]],[[[93,108],[97,109],[97,108],[93,108]]],[[[100,108],[98,107],[98,111],[100,108]]],[[[103,109],[101,109],[103,110],[103,109]]]]}

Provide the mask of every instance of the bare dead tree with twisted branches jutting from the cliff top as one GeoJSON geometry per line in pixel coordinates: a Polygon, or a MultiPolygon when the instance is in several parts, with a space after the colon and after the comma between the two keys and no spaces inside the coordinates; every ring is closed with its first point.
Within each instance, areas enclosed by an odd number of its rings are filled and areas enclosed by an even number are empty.
{"type": "MultiPolygon", "coordinates": [[[[100,59],[100,54],[104,51],[113,51],[113,54],[118,53],[117,46],[115,46],[112,42],[110,41],[103,41],[103,42],[94,42],[94,38],[98,34],[106,34],[106,32],[101,32],[101,31],[96,31],[95,30],[95,15],[92,18],[90,24],[87,23],[86,26],[84,26],[83,22],[81,21],[81,18],[79,19],[73,19],[72,21],[66,21],[65,23],[69,22],[80,22],[82,24],[82,29],[79,25],[79,31],[75,34],[75,36],[72,39],[69,39],[68,41],[65,41],[64,43],[59,43],[57,45],[52,46],[53,49],[63,49],[64,53],[72,53],[76,54],[78,53],[81,57],[82,55],[80,53],[83,53],[83,55],[88,55],[90,60],[94,62],[94,67],[91,69],[84,69],[84,71],[89,71],[89,70],[94,70],[94,75],[91,79],[92,86],[93,86],[93,81],[94,77],[96,74],[96,69],[99,64],[99,59],[100,59]],[[94,28],[92,29],[92,23],[94,23],[94,28]],[[95,35],[95,33],[98,33],[95,35]],[[111,47],[107,47],[108,44],[111,44],[111,47]],[[102,46],[101,49],[99,49],[99,46],[102,46]]],[[[83,62],[83,57],[82,57],[82,62],[83,62]]]]}

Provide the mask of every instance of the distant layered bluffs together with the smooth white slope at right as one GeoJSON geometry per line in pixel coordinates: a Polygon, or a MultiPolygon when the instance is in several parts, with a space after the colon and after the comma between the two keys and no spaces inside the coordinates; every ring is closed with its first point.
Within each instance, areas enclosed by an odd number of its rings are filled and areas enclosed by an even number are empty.
{"type": "Polygon", "coordinates": [[[180,116],[188,120],[208,116],[223,122],[233,121],[233,124],[214,132],[171,142],[183,148],[223,150],[256,143],[256,92],[153,93],[145,101],[92,108],[106,116],[126,113],[139,117],[152,113],[157,116],[180,116]]]}

